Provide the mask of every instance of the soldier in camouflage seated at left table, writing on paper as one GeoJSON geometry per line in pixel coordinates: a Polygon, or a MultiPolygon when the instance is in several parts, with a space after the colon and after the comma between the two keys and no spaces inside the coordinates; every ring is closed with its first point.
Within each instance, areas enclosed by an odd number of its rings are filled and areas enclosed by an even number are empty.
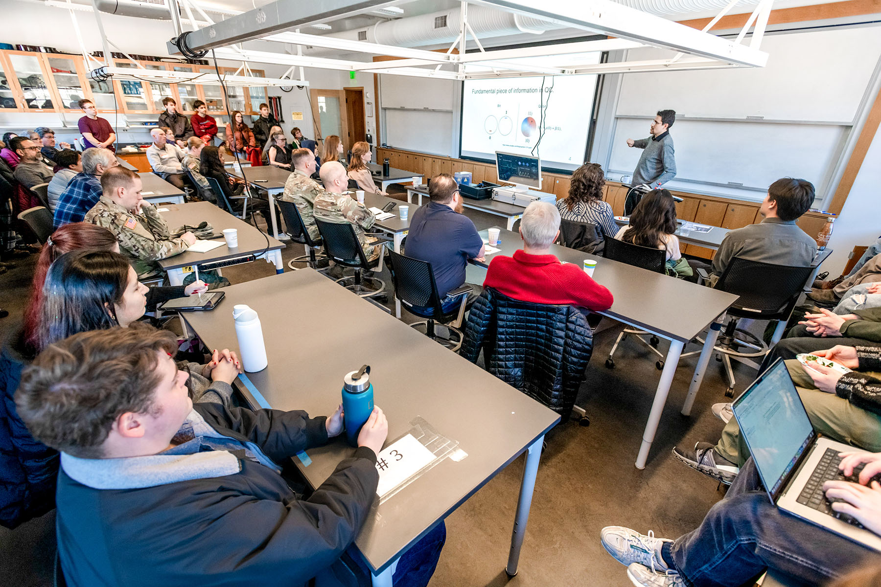
{"type": "Polygon", "coordinates": [[[122,254],[132,260],[137,275],[158,272],[155,263],[183,253],[196,242],[192,232],[172,238],[156,207],[141,198],[141,179],[124,167],[101,175],[100,200],[85,214],[85,222],[103,226],[116,235],[122,254]]]}

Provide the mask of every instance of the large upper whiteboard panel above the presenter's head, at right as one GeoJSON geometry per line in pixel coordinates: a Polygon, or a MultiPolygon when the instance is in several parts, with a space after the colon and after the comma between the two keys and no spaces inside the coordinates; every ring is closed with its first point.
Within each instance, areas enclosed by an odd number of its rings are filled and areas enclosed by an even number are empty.
{"type": "MultiPolygon", "coordinates": [[[[881,26],[768,33],[761,49],[769,55],[764,68],[626,74],[617,114],[651,117],[672,108],[690,117],[850,124],[881,55],[881,26]]],[[[640,48],[628,59],[671,55],[640,48]]]]}

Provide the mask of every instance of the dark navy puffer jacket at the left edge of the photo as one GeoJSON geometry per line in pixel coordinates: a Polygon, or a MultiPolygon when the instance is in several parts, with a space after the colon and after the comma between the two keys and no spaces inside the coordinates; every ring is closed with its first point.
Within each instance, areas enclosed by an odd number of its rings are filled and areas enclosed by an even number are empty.
{"type": "Polygon", "coordinates": [[[15,407],[21,371],[30,364],[16,335],[0,352],[0,525],[7,528],[55,508],[58,452],[34,440],[15,407]]]}

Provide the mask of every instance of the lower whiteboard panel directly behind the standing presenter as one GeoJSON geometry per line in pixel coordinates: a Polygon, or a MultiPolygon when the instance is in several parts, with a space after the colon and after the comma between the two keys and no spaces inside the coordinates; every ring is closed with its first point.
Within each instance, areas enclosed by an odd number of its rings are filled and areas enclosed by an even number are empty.
{"type": "MultiPolygon", "coordinates": [[[[670,128],[676,178],[766,189],[774,180],[796,177],[819,191],[846,132],[836,125],[677,121],[670,128]]],[[[618,119],[609,171],[633,173],[642,150],[628,147],[626,140],[647,136],[648,120],[618,119]]]]}

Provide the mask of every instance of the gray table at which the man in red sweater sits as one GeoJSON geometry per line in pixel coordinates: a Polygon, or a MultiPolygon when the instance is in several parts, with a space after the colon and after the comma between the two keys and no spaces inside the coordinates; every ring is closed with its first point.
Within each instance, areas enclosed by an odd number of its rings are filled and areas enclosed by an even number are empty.
{"type": "MultiPolygon", "coordinates": [[[[480,234],[486,238],[486,231],[481,231],[480,234]]],[[[494,255],[510,256],[522,248],[522,239],[515,232],[500,231],[500,245],[497,248],[500,252],[487,254],[485,262],[471,262],[487,267],[494,255]]],[[[598,313],[670,341],[670,350],[664,359],[661,379],[655,390],[655,401],[652,403],[646,429],[642,433],[640,452],[636,458],[636,468],[643,469],[655,439],[658,422],[661,422],[663,407],[667,394],[670,393],[670,384],[673,382],[682,349],[704,328],[710,326],[682,407],[682,414],[690,415],[694,398],[707,371],[707,363],[713,354],[725,312],[737,301],[737,296],[626,263],[581,253],[565,246],[552,245],[551,253],[557,255],[559,260],[574,263],[578,267],[583,266],[585,259],[596,260],[594,279],[609,288],[615,297],[615,303],[610,309],[598,313]]]]}

